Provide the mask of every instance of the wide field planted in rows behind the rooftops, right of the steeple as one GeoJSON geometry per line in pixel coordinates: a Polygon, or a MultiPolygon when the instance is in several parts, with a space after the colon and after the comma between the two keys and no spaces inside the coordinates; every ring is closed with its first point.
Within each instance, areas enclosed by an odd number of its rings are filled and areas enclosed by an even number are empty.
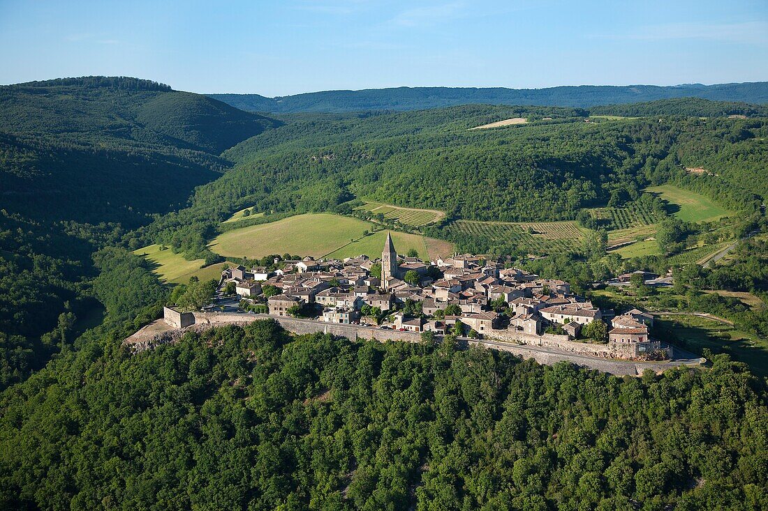
{"type": "Polygon", "coordinates": [[[511,223],[458,220],[452,228],[494,243],[516,246],[536,255],[573,249],[584,239],[584,230],[572,221],[511,223]]]}

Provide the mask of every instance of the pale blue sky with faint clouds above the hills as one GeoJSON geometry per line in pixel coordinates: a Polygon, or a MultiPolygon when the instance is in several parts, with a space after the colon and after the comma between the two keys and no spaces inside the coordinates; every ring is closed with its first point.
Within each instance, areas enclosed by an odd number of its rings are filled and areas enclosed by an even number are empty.
{"type": "Polygon", "coordinates": [[[200,93],[768,81],[768,0],[0,0],[0,84],[200,93]]]}

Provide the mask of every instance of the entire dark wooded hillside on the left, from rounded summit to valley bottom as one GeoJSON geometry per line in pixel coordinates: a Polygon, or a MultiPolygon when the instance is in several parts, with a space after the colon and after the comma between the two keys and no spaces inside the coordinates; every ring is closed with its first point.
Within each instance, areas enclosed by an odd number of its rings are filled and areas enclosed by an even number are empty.
{"type": "Polygon", "coordinates": [[[0,388],[98,316],[95,250],[183,207],[230,168],[223,150],[279,125],[136,78],[0,87],[0,388]]]}

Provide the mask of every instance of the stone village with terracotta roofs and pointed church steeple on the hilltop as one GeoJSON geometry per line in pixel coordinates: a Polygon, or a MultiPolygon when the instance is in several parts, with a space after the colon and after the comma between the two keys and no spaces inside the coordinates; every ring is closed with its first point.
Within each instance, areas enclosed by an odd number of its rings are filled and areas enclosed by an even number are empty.
{"type": "MultiPolygon", "coordinates": [[[[381,259],[306,257],[280,260],[274,270],[225,269],[217,303],[227,295],[237,300],[240,313],[365,325],[392,334],[496,339],[629,360],[664,359],[668,349],[649,337],[653,317],[645,312],[601,311],[572,293],[568,282],[540,279],[483,256],[424,262],[399,255],[389,234],[381,259]]],[[[204,310],[215,313],[217,304],[204,310]]],[[[181,316],[167,309],[166,321],[177,328],[194,322],[184,324],[181,316]]]]}

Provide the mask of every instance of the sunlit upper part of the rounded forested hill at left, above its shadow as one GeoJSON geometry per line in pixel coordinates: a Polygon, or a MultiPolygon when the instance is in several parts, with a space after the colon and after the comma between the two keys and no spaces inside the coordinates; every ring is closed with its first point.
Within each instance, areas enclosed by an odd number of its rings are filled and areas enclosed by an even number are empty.
{"type": "Polygon", "coordinates": [[[277,125],[200,94],[135,78],[84,77],[0,87],[0,126],[12,133],[114,137],[219,154],[277,125]]]}

